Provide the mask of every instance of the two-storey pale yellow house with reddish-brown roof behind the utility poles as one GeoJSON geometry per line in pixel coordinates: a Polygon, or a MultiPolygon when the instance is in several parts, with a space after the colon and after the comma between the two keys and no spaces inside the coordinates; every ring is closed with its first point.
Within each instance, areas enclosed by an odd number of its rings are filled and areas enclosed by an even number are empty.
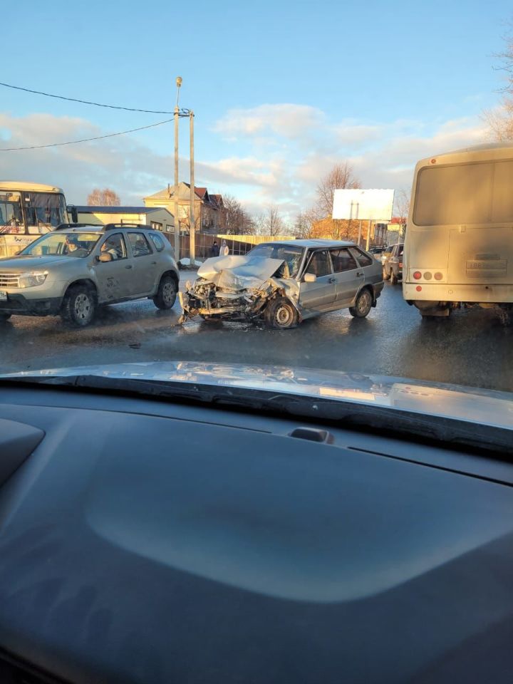
{"type": "MultiPolygon", "coordinates": [[[[190,232],[190,185],[181,182],[177,189],[180,233],[190,232]]],[[[171,214],[175,212],[175,186],[170,185],[155,195],[144,197],[146,207],[165,207],[171,214]]],[[[196,231],[217,234],[224,228],[222,195],[209,195],[206,187],[195,187],[195,224],[196,231]]]]}

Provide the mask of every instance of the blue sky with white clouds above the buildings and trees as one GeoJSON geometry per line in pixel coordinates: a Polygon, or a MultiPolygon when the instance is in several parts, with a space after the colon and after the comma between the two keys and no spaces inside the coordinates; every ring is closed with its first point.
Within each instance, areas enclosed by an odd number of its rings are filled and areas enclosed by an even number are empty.
{"type": "MultiPolygon", "coordinates": [[[[365,187],[408,189],[415,161],[481,142],[511,5],[27,1],[9,22],[1,81],[86,100],[196,113],[197,185],[258,211],[306,208],[349,160],[365,187]],[[6,49],[7,48],[7,49],[6,49]]],[[[63,142],[165,115],[123,113],[0,88],[0,147],[63,142]],[[9,144],[8,144],[9,143],[9,144]]],[[[95,186],[140,203],[172,181],[172,125],[107,141],[0,152],[0,177],[95,186]]],[[[182,180],[188,180],[182,121],[182,180]]]]}

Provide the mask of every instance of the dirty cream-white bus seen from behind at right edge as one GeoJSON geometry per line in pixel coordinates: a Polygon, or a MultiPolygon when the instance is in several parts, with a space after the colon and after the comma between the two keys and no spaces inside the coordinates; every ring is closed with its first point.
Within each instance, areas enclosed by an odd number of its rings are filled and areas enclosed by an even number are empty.
{"type": "Polygon", "coordinates": [[[403,297],[423,316],[513,306],[513,145],[418,162],[405,237],[403,297]]]}

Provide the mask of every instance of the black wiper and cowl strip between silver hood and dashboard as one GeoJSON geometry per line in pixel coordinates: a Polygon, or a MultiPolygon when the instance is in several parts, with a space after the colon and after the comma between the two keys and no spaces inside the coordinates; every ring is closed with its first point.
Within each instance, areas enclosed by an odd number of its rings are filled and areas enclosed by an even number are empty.
{"type": "Polygon", "coordinates": [[[0,378],[1,385],[51,385],[88,392],[226,406],[234,410],[271,413],[332,423],[345,429],[380,437],[404,438],[437,447],[472,450],[512,459],[513,430],[497,425],[470,423],[460,418],[415,413],[388,406],[368,405],[333,398],[317,398],[287,392],[271,392],[232,385],[208,385],[175,380],[111,378],[103,375],[25,375],[0,378]]]}

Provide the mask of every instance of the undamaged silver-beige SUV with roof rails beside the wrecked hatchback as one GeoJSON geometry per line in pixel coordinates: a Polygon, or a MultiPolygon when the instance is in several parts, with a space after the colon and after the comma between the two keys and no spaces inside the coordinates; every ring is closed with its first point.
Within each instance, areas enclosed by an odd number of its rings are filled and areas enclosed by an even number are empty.
{"type": "Polygon", "coordinates": [[[157,230],[68,224],[0,259],[0,322],[60,314],[83,327],[98,306],[146,297],[171,309],[179,279],[172,247],[157,230]]]}

